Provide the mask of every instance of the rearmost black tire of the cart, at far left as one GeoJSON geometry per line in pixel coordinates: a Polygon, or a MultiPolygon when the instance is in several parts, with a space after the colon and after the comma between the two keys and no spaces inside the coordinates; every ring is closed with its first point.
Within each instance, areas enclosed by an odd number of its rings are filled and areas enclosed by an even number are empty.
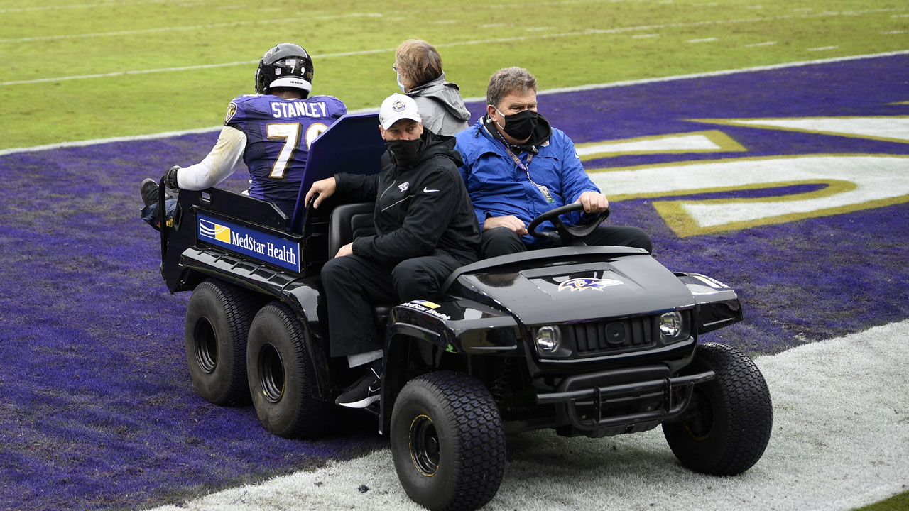
{"type": "Polygon", "coordinates": [[[255,293],[215,279],[195,286],[189,298],[186,363],[195,391],[215,405],[249,403],[246,336],[261,303],[255,293]]]}

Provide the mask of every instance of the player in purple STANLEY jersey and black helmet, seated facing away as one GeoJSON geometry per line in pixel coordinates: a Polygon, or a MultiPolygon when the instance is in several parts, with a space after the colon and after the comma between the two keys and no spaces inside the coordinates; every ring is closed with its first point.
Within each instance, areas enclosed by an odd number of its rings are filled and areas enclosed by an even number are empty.
{"type": "MultiPolygon", "coordinates": [[[[313,59],[302,46],[281,43],[269,49],[255,70],[256,94],[236,96],[227,105],[215,147],[195,165],[168,169],[165,185],[204,190],[234,174],[243,162],[252,177],[249,195],[293,215],[309,146],[347,113],[341,100],[310,95],[312,89],[313,59]]],[[[145,179],[141,193],[143,219],[157,228],[157,182],[145,179]]],[[[174,208],[175,199],[168,198],[168,218],[174,208]]]]}

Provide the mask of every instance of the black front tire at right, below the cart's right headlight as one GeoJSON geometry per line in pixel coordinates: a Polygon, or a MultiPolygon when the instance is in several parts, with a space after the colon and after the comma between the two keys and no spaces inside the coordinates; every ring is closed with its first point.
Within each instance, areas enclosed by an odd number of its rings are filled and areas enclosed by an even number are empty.
{"type": "Polygon", "coordinates": [[[770,391],[751,358],[732,346],[697,346],[685,373],[714,370],[713,381],[694,386],[682,419],[663,433],[682,465],[704,474],[735,476],[764,455],[774,426],[770,391]]]}

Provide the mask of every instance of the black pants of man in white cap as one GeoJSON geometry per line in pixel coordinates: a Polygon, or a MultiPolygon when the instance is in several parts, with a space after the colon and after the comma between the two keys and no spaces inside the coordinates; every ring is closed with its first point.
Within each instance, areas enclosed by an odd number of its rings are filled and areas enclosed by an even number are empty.
{"type": "Polygon", "coordinates": [[[322,286],[328,305],[331,356],[382,349],[376,335],[373,305],[435,300],[440,287],[463,266],[453,255],[438,253],[385,266],[357,255],[335,257],[322,267],[322,286]]]}

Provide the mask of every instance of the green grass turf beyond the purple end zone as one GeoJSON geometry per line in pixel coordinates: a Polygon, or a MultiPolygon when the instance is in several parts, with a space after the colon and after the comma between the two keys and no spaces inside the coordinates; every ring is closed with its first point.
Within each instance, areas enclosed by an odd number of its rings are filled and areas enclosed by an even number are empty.
{"type": "Polygon", "coordinates": [[[412,36],[439,47],[465,97],[506,65],[549,89],[909,49],[897,1],[94,1],[0,1],[0,149],[218,125],[283,41],[315,55],[314,94],[351,110],[396,91],[392,50],[412,36]],[[811,50],[825,46],[837,47],[811,50]]]}

